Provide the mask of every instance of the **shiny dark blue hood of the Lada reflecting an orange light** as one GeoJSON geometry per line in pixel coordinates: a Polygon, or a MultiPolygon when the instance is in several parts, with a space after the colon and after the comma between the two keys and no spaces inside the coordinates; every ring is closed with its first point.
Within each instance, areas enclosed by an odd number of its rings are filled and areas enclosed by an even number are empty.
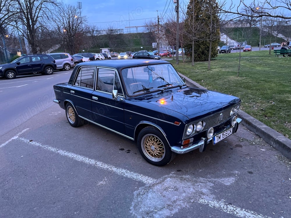
{"type": "Polygon", "coordinates": [[[164,107],[166,110],[180,112],[191,121],[214,114],[240,102],[239,98],[232,95],[193,87],[165,90],[164,93],[146,100],[164,107]]]}

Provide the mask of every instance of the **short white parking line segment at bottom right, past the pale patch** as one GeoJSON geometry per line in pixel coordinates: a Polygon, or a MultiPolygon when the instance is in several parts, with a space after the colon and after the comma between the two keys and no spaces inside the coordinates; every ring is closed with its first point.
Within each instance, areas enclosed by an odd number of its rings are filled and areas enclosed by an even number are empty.
{"type": "Polygon", "coordinates": [[[206,204],[212,208],[216,208],[219,210],[222,210],[224,212],[227,212],[229,214],[235,215],[237,217],[244,217],[244,218],[271,218],[271,217],[266,217],[264,215],[261,214],[257,214],[253,211],[250,210],[246,210],[246,209],[241,209],[238,208],[234,205],[229,205],[226,204],[222,201],[207,201],[205,199],[199,199],[198,202],[202,203],[202,204],[206,204]]]}

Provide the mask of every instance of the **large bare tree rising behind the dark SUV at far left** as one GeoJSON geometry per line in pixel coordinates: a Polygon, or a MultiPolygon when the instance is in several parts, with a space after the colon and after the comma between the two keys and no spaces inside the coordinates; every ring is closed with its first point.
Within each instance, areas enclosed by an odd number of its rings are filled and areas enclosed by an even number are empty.
{"type": "MultiPolygon", "coordinates": [[[[18,14],[13,17],[16,23],[25,28],[18,28],[31,45],[32,53],[39,51],[37,35],[47,29],[47,22],[51,20],[51,12],[58,7],[56,0],[14,0],[17,3],[18,14]]],[[[15,9],[16,9],[15,8],[15,9]]],[[[15,10],[14,9],[14,10],[15,10]]],[[[16,10],[15,10],[16,11],[16,10]]],[[[27,49],[27,48],[26,48],[27,49]]],[[[27,53],[30,53],[27,51],[27,53]]]]}

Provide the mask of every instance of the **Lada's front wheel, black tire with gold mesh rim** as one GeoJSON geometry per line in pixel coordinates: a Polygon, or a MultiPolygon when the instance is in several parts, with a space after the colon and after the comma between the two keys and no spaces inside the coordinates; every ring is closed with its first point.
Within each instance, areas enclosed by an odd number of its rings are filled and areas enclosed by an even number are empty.
{"type": "Polygon", "coordinates": [[[147,162],[159,167],[168,164],[176,156],[176,153],[171,151],[164,135],[151,126],[141,130],[137,137],[137,147],[147,162]]]}

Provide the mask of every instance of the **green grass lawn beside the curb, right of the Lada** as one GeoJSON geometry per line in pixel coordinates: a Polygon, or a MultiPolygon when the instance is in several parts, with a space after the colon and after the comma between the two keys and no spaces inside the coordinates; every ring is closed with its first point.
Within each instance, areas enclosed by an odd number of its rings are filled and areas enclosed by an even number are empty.
{"type": "Polygon", "coordinates": [[[208,62],[170,62],[207,89],[239,97],[241,110],[291,139],[291,57],[273,51],[222,53],[211,61],[211,70],[208,62]]]}

